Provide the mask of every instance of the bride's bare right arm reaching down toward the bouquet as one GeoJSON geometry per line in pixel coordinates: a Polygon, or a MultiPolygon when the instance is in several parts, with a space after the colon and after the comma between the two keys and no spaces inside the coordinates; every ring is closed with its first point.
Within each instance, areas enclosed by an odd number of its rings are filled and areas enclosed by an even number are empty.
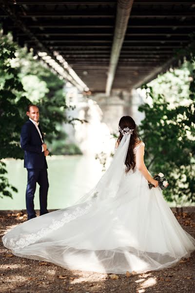
{"type": "Polygon", "coordinates": [[[148,180],[149,183],[153,184],[155,187],[157,186],[157,181],[152,178],[149,174],[147,167],[144,163],[144,146],[140,146],[136,152],[136,167],[143,174],[143,176],[148,180]]]}

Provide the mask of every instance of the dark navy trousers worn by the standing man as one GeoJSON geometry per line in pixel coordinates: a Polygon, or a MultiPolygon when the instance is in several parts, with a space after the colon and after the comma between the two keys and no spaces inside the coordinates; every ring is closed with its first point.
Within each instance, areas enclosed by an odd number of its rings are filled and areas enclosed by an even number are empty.
{"type": "Polygon", "coordinates": [[[40,202],[40,215],[48,213],[47,210],[47,192],[49,188],[47,168],[43,169],[27,169],[28,170],[28,183],[26,188],[26,210],[28,220],[36,217],[34,209],[34,196],[37,183],[39,184],[39,202],[40,202]]]}

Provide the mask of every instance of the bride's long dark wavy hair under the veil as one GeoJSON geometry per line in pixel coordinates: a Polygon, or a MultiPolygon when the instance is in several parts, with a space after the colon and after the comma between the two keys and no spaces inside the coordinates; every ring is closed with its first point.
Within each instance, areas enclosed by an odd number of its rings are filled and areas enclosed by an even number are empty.
{"type": "MultiPolygon", "coordinates": [[[[131,134],[131,139],[130,139],[129,147],[127,150],[127,156],[125,159],[125,165],[126,165],[125,172],[126,173],[129,172],[130,169],[132,169],[133,172],[135,172],[136,161],[135,161],[135,155],[134,155],[133,150],[134,150],[135,144],[140,142],[139,133],[137,131],[137,125],[132,117],[123,116],[120,118],[119,126],[122,129],[125,127],[129,127],[130,129],[134,129],[133,133],[131,134]],[[137,140],[137,138],[138,138],[138,140],[137,140]]],[[[120,143],[122,137],[123,137],[123,134],[120,132],[120,135],[117,139],[118,144],[120,143]]]]}

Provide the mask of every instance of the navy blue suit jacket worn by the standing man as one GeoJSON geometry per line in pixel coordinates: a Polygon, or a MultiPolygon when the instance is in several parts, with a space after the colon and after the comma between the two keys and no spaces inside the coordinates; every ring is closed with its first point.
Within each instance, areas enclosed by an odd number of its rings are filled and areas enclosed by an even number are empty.
{"type": "MultiPolygon", "coordinates": [[[[43,138],[43,133],[40,129],[43,138]]],[[[36,126],[28,120],[21,128],[20,145],[24,150],[24,167],[27,169],[47,167],[44,151],[42,152],[42,141],[36,126]]]]}

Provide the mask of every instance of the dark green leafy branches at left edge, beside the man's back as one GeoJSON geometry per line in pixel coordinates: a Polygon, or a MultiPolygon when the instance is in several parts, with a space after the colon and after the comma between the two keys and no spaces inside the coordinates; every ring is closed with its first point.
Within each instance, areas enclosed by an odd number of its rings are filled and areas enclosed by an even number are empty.
{"type": "Polygon", "coordinates": [[[12,197],[17,189],[9,184],[3,158],[22,158],[20,129],[24,123],[23,108],[30,102],[23,95],[18,69],[12,68],[16,46],[6,37],[0,38],[0,196],[12,197]]]}

